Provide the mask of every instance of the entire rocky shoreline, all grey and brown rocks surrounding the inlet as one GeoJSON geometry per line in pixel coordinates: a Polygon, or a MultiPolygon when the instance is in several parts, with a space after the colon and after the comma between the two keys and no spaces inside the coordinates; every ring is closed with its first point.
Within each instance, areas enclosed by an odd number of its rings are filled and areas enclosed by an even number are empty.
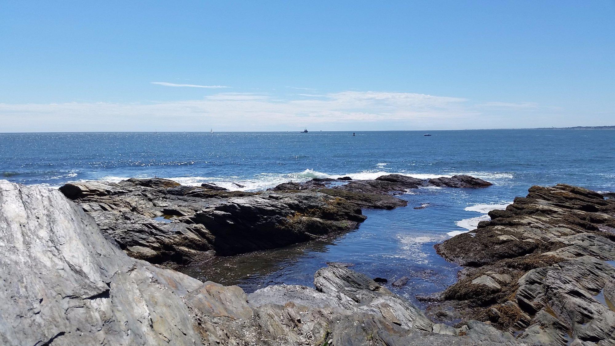
{"type": "Polygon", "coordinates": [[[258,239],[265,230],[303,241],[356,227],[363,207],[394,207],[396,191],[488,184],[381,178],[261,193],[161,179],[65,185],[77,204],[57,190],[0,180],[0,297],[8,302],[0,343],[615,345],[615,200],[569,185],[531,187],[477,230],[439,244],[464,269],[442,294],[422,297],[432,302],[427,312],[343,264],[315,273],[315,288],[245,294],[138,259],[151,250],[154,262],[177,265],[189,255],[280,244],[258,239]],[[173,222],[154,220],[168,212],[177,212],[173,222]],[[224,231],[245,239],[235,246],[224,231]]]}

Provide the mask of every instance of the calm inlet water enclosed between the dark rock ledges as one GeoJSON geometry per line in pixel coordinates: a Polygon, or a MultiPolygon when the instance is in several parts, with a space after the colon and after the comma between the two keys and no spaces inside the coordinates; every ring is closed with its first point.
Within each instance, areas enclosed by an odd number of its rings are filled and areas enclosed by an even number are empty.
{"type": "Polygon", "coordinates": [[[456,222],[478,214],[464,210],[467,206],[499,203],[502,192],[497,186],[419,189],[401,196],[409,201],[407,207],[363,211],[368,218],[356,231],[281,249],[217,257],[182,272],[199,280],[238,284],[253,292],[272,284],[312,286],[314,273],[327,262],[347,262],[354,264],[353,270],[372,278],[386,278],[389,289],[422,306],[416,294],[442,291],[454,283],[460,269],[436,254],[434,245],[449,238],[446,233],[463,230],[456,222]],[[392,287],[402,276],[410,278],[408,283],[392,287]]]}

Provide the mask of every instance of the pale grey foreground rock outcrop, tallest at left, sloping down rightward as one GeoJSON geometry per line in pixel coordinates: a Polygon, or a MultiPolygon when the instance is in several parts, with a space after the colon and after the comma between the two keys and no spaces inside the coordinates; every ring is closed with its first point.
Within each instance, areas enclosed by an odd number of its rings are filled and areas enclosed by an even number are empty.
{"type": "Polygon", "coordinates": [[[126,255],[50,188],[0,180],[2,345],[523,345],[469,321],[434,324],[360,273],[246,295],[126,255]]]}

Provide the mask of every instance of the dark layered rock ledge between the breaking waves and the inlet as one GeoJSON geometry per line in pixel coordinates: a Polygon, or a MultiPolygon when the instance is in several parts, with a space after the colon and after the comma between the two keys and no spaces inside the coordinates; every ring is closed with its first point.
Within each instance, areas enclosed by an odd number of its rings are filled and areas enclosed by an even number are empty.
{"type": "MultiPolygon", "coordinates": [[[[484,180],[456,175],[455,187],[484,187],[484,180]]],[[[131,257],[172,268],[215,255],[287,246],[346,232],[365,220],[362,208],[392,209],[394,196],[429,180],[384,175],[375,180],[312,179],[269,191],[229,191],[161,178],[75,182],[60,191],[94,217],[101,230],[131,257]],[[339,183],[343,185],[335,185],[339,183]]]]}

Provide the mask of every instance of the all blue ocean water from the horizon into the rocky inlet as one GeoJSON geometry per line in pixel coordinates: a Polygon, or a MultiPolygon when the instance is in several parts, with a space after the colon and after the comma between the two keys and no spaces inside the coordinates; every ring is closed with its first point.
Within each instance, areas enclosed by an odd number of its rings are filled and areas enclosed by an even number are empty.
{"type": "Polygon", "coordinates": [[[373,179],[470,174],[493,182],[484,189],[421,188],[393,211],[364,211],[359,230],[284,249],[219,258],[185,272],[240,284],[311,284],[326,262],[389,283],[410,299],[454,281],[457,270],[435,254],[435,243],[488,218],[494,205],[524,196],[531,185],[571,183],[615,190],[615,131],[477,130],[389,132],[115,132],[0,133],[0,179],[58,187],[73,180],[165,177],[236,190],[263,190],[312,177],[373,179]],[[244,185],[239,188],[233,183],[244,185]],[[422,209],[415,209],[421,207],[422,209]]]}

